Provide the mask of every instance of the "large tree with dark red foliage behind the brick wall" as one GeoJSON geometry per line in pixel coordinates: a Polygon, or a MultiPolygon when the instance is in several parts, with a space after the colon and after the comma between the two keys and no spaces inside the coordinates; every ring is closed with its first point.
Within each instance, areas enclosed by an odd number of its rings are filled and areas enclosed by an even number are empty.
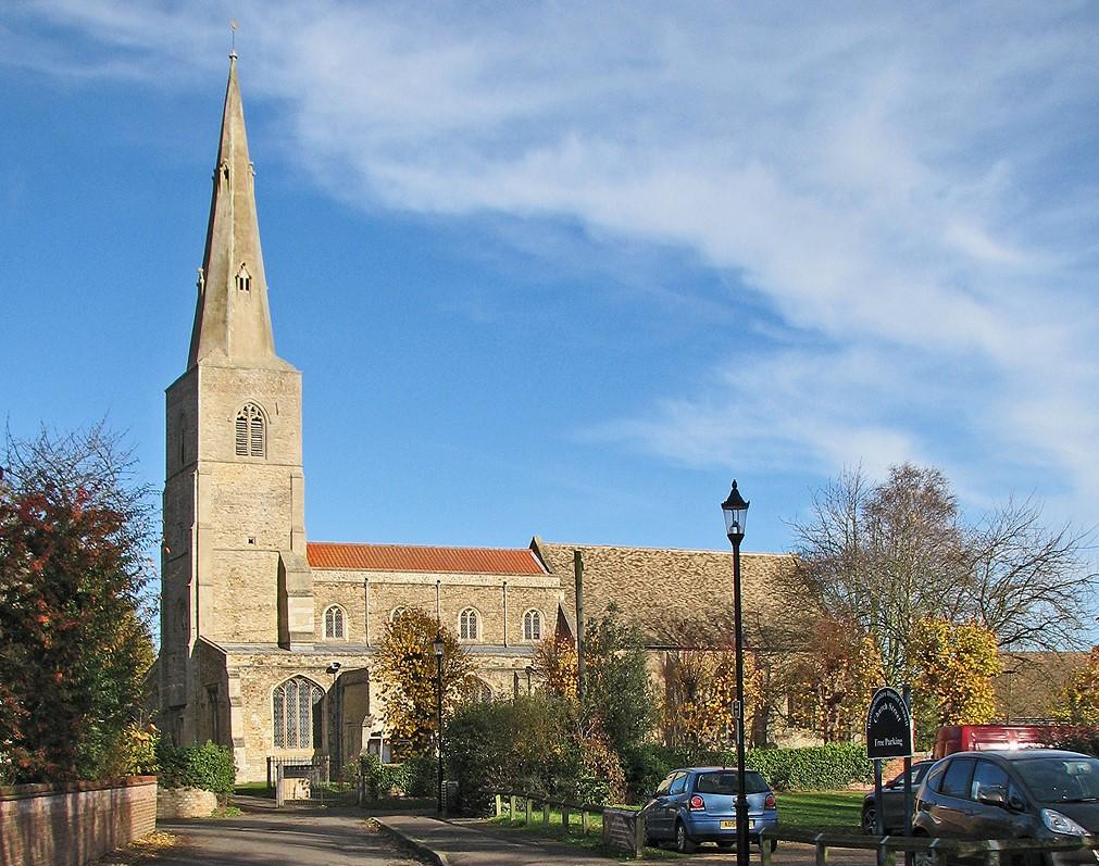
{"type": "Polygon", "coordinates": [[[0,481],[0,780],[100,771],[153,660],[148,490],[102,425],[10,436],[0,481]]]}

